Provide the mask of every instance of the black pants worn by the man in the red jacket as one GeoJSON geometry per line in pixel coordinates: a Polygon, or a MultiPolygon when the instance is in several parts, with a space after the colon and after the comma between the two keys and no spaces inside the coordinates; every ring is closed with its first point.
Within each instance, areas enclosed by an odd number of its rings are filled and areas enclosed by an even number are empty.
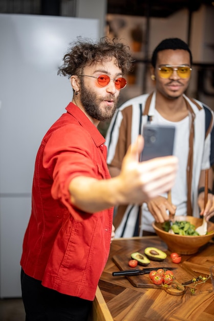
{"type": "Polygon", "coordinates": [[[61,294],[21,272],[26,321],[87,321],[92,301],[61,294]]]}

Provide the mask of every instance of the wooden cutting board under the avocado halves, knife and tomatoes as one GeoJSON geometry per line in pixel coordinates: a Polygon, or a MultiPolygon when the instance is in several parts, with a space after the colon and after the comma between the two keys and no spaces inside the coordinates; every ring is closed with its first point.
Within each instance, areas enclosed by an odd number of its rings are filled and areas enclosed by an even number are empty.
{"type": "MultiPolygon", "coordinates": [[[[144,253],[144,249],[139,249],[136,252],[144,253]]],[[[132,259],[130,255],[114,255],[112,257],[114,263],[118,266],[118,268],[122,270],[135,270],[135,269],[143,269],[143,268],[157,268],[157,267],[172,267],[177,268],[177,270],[173,270],[175,279],[178,283],[182,284],[182,282],[186,282],[191,278],[196,276],[194,273],[185,263],[175,264],[172,262],[170,256],[167,254],[167,257],[162,262],[152,261],[146,266],[137,266],[136,268],[130,268],[128,263],[129,260],[132,259]]],[[[122,277],[122,276],[114,276],[114,277],[122,277]]],[[[161,285],[153,284],[152,280],[149,278],[149,274],[140,274],[135,276],[125,276],[129,282],[137,288],[163,288],[161,285]]]]}

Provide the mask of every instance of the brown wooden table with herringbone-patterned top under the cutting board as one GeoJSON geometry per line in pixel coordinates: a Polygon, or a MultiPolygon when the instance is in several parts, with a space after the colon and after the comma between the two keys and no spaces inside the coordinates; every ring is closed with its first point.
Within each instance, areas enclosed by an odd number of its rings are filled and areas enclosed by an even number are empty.
{"type": "MultiPolygon", "coordinates": [[[[185,287],[183,295],[175,296],[161,288],[137,288],[124,276],[112,276],[113,271],[119,270],[112,260],[114,255],[130,254],[148,246],[170,254],[158,236],[120,238],[112,242],[109,260],[101,275],[94,300],[93,321],[214,320],[214,292],[210,279],[197,286],[194,295],[189,287],[185,287]]],[[[191,269],[196,276],[209,275],[209,267],[212,265],[213,241],[197,254],[182,255],[181,266],[191,269]]]]}

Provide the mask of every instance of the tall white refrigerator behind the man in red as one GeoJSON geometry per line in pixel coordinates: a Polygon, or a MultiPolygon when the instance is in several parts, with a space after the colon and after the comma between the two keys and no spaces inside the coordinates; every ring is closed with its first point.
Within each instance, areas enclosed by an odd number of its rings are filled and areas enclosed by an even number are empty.
{"type": "Polygon", "coordinates": [[[0,14],[0,297],[20,297],[20,256],[31,213],[40,141],[72,99],[57,75],[77,36],[97,39],[97,19],[0,14]]]}

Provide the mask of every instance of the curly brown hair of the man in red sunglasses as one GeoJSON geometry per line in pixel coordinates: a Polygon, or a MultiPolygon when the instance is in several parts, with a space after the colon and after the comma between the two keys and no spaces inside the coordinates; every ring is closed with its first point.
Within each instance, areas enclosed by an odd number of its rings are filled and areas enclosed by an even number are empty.
{"type": "Polygon", "coordinates": [[[64,64],[59,67],[57,74],[71,77],[81,73],[82,68],[95,62],[102,62],[105,59],[115,57],[118,67],[123,74],[132,69],[132,56],[130,47],[119,42],[118,39],[108,37],[100,38],[99,42],[93,43],[88,38],[77,38],[77,41],[70,44],[70,50],[64,55],[64,64]]]}

